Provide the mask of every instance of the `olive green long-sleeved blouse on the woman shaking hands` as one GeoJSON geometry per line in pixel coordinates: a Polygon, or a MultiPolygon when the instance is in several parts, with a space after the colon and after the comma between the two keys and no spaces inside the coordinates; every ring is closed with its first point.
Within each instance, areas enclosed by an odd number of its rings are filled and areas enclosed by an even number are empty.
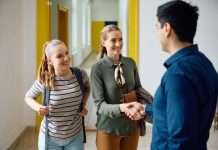
{"type": "MultiPolygon", "coordinates": [[[[134,60],[122,56],[121,63],[128,91],[141,87],[134,60]]],[[[100,59],[91,69],[91,90],[97,106],[96,127],[107,133],[125,136],[135,130],[137,124],[120,111],[121,91],[115,82],[114,69],[108,56],[100,59]]]]}

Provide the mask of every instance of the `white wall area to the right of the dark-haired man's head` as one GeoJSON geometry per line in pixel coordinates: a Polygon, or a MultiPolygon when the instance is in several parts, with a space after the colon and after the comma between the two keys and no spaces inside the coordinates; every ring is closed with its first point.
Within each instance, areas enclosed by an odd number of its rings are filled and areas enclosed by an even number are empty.
{"type": "Polygon", "coordinates": [[[200,9],[195,42],[218,71],[218,1],[192,0],[192,2],[200,9]]]}

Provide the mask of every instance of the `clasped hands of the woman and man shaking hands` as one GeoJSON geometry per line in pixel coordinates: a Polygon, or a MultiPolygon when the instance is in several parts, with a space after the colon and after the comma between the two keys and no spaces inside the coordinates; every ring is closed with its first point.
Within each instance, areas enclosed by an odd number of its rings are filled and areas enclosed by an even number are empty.
{"type": "Polygon", "coordinates": [[[120,104],[120,111],[131,120],[140,120],[145,116],[145,104],[129,102],[120,104]]]}

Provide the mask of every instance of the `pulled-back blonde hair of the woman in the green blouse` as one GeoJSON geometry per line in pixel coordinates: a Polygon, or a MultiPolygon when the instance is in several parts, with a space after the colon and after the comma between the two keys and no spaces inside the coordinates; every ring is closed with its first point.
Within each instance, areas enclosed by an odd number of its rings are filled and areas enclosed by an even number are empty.
{"type": "Polygon", "coordinates": [[[112,31],[119,31],[121,32],[120,28],[114,24],[110,24],[110,25],[107,25],[105,26],[102,30],[101,30],[101,37],[100,37],[100,42],[101,42],[101,49],[100,49],[100,54],[99,54],[99,58],[103,58],[104,55],[107,55],[107,50],[106,48],[103,46],[103,42],[105,40],[107,40],[107,34],[109,32],[112,32],[112,31]]]}

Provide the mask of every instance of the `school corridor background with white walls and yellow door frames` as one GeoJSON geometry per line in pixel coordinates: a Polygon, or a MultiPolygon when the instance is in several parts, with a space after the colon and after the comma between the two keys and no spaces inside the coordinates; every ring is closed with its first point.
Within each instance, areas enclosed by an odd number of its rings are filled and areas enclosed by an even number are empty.
{"type": "MultiPolygon", "coordinates": [[[[169,57],[154,34],[157,6],[168,0],[0,0],[0,150],[37,150],[41,117],[24,101],[36,79],[43,45],[66,43],[72,66],[90,75],[100,49],[100,31],[108,24],[122,30],[122,55],[136,61],[142,86],[154,95],[169,57]]],[[[195,43],[218,71],[218,1],[188,0],[199,6],[195,43]]],[[[42,102],[42,97],[37,99],[42,102]]],[[[85,150],[96,150],[96,106],[88,100],[85,150]]],[[[152,125],[138,150],[149,150],[152,125]]],[[[211,127],[208,150],[218,149],[211,127]]]]}

